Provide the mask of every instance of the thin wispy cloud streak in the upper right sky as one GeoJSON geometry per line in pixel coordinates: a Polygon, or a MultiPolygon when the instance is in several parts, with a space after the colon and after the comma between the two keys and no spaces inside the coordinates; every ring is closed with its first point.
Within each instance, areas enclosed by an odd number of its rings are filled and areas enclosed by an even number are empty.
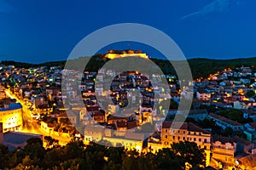
{"type": "MultiPolygon", "coordinates": [[[[194,13],[191,13],[191,14],[186,14],[179,20],[184,20],[195,15],[205,15],[205,14],[210,14],[214,12],[222,12],[226,8],[229,8],[230,4],[231,4],[231,0],[215,0],[212,3],[209,3],[206,6],[204,6],[201,10],[195,11],[194,13]]],[[[237,1],[236,4],[239,4],[239,1],[237,1]]]]}

